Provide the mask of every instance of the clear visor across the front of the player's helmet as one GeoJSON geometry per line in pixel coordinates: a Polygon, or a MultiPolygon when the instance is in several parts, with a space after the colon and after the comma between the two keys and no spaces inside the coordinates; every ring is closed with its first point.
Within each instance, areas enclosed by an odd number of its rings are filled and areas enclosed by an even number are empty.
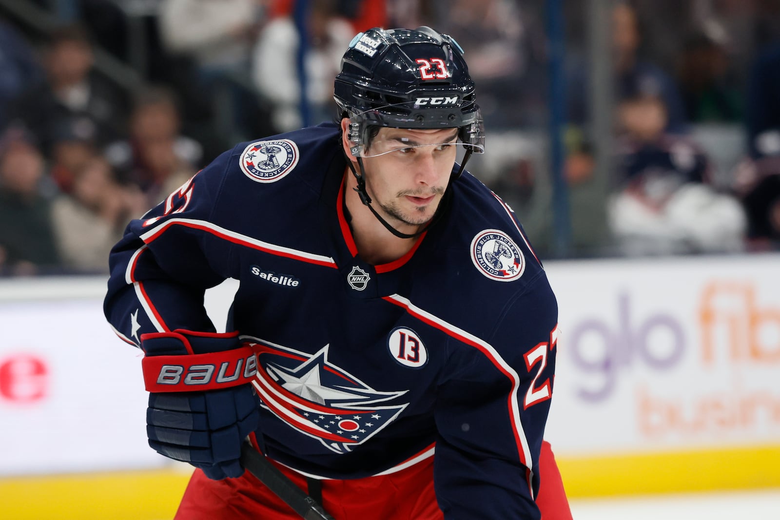
{"type": "Polygon", "coordinates": [[[352,153],[359,157],[378,157],[385,154],[413,154],[431,150],[434,153],[454,149],[460,140],[474,153],[484,153],[484,126],[479,108],[463,112],[459,106],[426,107],[426,100],[445,100],[446,97],[417,98],[417,101],[385,105],[353,115],[349,119],[349,139],[352,153]],[[423,104],[420,104],[422,100],[423,104]],[[385,128],[385,131],[382,131],[385,128]],[[439,132],[431,142],[426,136],[398,129],[452,129],[439,132]]]}

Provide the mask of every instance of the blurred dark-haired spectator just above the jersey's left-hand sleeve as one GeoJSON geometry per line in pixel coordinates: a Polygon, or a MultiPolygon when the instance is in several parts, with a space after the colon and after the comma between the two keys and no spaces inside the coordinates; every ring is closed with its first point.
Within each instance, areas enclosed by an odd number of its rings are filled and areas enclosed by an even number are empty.
{"type": "Polygon", "coordinates": [[[189,179],[200,163],[200,144],[183,136],[179,124],[172,91],[149,87],[136,98],[129,140],[112,143],[105,150],[120,181],[140,187],[150,207],[189,179]]]}

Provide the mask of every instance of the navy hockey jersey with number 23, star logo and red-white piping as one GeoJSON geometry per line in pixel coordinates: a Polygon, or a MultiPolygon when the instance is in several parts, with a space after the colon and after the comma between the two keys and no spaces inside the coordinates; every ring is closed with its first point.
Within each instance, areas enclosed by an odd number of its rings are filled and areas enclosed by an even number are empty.
{"type": "Polygon", "coordinates": [[[558,311],[514,214],[464,173],[409,253],[369,265],[345,171],[332,124],[225,152],[130,223],[106,317],[135,345],[215,331],[204,291],[235,278],[227,330],[257,352],[269,457],[348,479],[435,453],[447,518],[538,518],[558,311]]]}

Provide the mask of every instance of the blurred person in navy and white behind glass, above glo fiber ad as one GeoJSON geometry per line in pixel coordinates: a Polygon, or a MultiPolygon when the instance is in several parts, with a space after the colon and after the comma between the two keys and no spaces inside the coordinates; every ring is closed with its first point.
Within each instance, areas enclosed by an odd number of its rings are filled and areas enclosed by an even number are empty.
{"type": "Polygon", "coordinates": [[[622,136],[608,222],[626,254],[732,252],[743,248],[739,203],[707,184],[707,157],[691,140],[665,133],[659,97],[619,106],[622,136]]]}

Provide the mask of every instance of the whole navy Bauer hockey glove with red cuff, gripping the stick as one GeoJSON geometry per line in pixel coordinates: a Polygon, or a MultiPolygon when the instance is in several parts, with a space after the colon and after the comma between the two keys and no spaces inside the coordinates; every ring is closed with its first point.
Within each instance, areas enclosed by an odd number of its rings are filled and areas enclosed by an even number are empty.
{"type": "Polygon", "coordinates": [[[243,475],[241,444],[260,421],[250,380],[254,352],[238,332],[176,330],[141,336],[149,394],[147,435],[161,455],[189,462],[211,479],[243,475]]]}

